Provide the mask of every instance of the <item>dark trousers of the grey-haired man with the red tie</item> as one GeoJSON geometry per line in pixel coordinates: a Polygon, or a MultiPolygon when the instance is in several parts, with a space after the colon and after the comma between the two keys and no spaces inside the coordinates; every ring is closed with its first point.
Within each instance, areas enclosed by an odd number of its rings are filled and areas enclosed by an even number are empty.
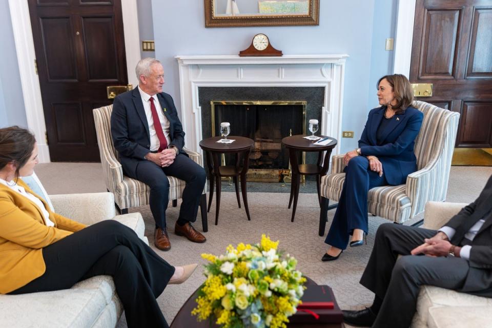
{"type": "Polygon", "coordinates": [[[207,179],[205,170],[201,166],[188,156],[179,154],[166,168],[161,168],[149,160],[142,160],[137,165],[136,174],[136,179],[150,187],[150,210],[157,227],[166,228],[166,210],[169,202],[168,175],[186,181],[179,219],[195,222],[207,179]]]}

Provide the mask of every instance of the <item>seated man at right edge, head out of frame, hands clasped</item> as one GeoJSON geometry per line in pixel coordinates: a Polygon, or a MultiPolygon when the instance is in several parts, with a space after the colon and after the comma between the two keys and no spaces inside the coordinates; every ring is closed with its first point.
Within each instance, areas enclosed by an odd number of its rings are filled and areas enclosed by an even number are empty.
{"type": "Polygon", "coordinates": [[[439,231],[381,224],[360,283],[376,296],[371,308],[343,311],[356,326],[408,327],[421,285],[492,297],[492,176],[439,231]]]}

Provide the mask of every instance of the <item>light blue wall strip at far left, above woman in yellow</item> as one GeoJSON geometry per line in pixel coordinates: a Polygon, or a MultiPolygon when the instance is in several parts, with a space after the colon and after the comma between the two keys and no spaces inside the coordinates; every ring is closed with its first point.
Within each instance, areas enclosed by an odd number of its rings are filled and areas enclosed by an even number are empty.
{"type": "MultiPolygon", "coordinates": [[[[27,127],[8,0],[0,0],[0,128],[27,127]]],[[[31,63],[29,63],[31,64],[31,63]]]]}

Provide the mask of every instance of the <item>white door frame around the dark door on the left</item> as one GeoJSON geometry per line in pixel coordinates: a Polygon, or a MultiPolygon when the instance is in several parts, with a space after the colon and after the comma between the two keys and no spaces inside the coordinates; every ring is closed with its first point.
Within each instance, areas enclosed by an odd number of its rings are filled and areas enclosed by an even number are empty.
{"type": "MultiPolygon", "coordinates": [[[[37,140],[39,162],[50,162],[46,144],[46,124],[39,79],[34,69],[34,41],[27,1],[9,0],[10,17],[14,33],[15,50],[19,65],[20,83],[26,110],[27,126],[37,140]]],[[[133,71],[140,60],[140,41],[138,34],[138,15],[136,0],[122,0],[121,10],[125,34],[128,81],[137,84],[133,71]]]]}

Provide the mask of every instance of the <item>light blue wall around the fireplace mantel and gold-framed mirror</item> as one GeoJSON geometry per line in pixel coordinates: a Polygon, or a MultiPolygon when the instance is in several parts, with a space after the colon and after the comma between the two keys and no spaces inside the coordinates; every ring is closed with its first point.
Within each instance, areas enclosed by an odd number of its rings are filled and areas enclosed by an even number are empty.
{"type": "Polygon", "coordinates": [[[386,38],[386,30],[394,30],[394,22],[387,17],[396,10],[393,6],[396,0],[383,0],[383,4],[379,1],[375,4],[374,0],[321,0],[319,26],[205,28],[202,1],[152,0],[155,54],[166,72],[165,91],[174,97],[179,110],[178,64],[174,56],[238,54],[249,47],[257,33],[267,34],[272,45],[284,54],[346,53],[350,58],[346,62],[342,130],[355,131],[356,137],[339,138],[339,141],[342,152],[354,149],[369,104],[374,103],[372,75],[380,75],[384,68],[391,66],[387,56],[372,56],[373,48],[378,53],[384,52],[384,43],[382,48],[379,45],[373,47],[372,39],[373,35],[379,38],[381,34],[386,38]],[[379,21],[374,24],[374,17],[384,19],[385,25],[379,21]],[[381,63],[373,70],[373,62],[379,58],[381,63]],[[368,99],[370,88],[371,103],[368,99]]]}

